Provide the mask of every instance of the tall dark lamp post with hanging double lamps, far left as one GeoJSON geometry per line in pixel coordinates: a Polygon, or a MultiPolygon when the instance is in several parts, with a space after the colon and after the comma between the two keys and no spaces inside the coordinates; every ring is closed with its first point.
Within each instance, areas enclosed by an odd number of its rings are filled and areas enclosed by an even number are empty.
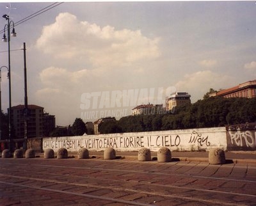
{"type": "Polygon", "coordinates": [[[4,25],[3,42],[8,42],[8,68],[9,68],[9,150],[12,152],[12,95],[11,95],[11,58],[10,58],[10,36],[16,36],[14,29],[14,22],[10,20],[7,14],[3,15],[3,18],[7,20],[7,24],[4,25]],[[12,25],[12,33],[10,33],[10,27],[12,25]],[[7,29],[7,38],[5,31],[7,29]]]}

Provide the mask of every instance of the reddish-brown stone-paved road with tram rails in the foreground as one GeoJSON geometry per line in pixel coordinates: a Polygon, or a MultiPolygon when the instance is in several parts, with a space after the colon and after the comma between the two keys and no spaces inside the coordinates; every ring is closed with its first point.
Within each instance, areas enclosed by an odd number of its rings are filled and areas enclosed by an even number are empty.
{"type": "Polygon", "coordinates": [[[255,205],[256,165],[0,159],[0,205],[255,205]]]}

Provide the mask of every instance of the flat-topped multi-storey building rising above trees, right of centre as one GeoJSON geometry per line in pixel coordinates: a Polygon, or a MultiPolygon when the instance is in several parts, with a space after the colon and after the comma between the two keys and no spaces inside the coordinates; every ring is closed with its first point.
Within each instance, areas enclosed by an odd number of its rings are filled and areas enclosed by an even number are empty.
{"type": "Polygon", "coordinates": [[[172,111],[175,107],[183,104],[191,104],[191,95],[187,92],[175,92],[166,98],[166,111],[172,111]]]}

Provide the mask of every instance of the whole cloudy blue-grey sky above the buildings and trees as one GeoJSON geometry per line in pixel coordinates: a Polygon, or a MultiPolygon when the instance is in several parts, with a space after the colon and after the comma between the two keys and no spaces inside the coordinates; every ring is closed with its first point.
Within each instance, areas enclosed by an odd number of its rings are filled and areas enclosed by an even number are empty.
{"type": "MultiPolygon", "coordinates": [[[[51,4],[2,2],[0,12],[15,24],[51,4]]],[[[256,79],[255,1],[64,2],[15,32],[12,106],[24,104],[26,42],[28,104],[55,115],[56,125],[118,119],[139,104],[164,104],[173,91],[188,92],[193,103],[210,88],[256,79]]],[[[7,50],[0,42],[1,67],[7,50]]],[[[6,68],[1,74],[6,113],[6,68]]]]}

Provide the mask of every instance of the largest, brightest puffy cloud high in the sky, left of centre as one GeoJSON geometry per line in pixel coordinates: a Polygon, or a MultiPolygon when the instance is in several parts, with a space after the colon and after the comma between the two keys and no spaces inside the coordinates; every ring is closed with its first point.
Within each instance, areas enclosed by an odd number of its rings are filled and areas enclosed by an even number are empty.
{"type": "Polygon", "coordinates": [[[159,38],[148,38],[140,30],[116,30],[77,20],[75,15],[60,13],[56,22],[45,26],[36,46],[61,59],[89,59],[92,65],[127,65],[160,55],[159,38]]]}

